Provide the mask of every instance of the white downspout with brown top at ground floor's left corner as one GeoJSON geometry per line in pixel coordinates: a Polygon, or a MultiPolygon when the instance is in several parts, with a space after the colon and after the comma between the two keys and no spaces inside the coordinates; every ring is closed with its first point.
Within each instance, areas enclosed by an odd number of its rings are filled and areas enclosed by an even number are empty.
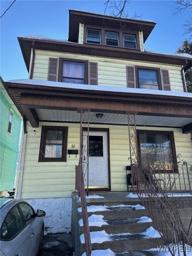
{"type": "Polygon", "coordinates": [[[27,131],[26,131],[26,120],[23,120],[23,145],[22,145],[22,154],[21,154],[21,165],[20,165],[20,173],[19,173],[19,183],[18,183],[18,191],[17,191],[17,198],[21,199],[21,187],[23,181],[23,169],[24,169],[24,158],[25,158],[25,148],[26,148],[26,141],[27,141],[27,131]]]}

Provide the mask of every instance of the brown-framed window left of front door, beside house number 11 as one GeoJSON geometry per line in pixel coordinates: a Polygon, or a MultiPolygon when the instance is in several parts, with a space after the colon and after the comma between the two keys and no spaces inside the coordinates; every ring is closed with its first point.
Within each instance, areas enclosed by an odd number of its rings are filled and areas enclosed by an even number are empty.
{"type": "Polygon", "coordinates": [[[67,136],[66,126],[42,126],[39,162],[66,162],[67,136]]]}

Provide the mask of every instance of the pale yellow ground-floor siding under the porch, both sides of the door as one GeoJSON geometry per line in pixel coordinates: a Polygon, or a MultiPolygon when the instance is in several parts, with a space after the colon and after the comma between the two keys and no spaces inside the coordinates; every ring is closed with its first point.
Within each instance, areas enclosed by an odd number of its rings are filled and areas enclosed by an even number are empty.
{"type": "MultiPolygon", "coordinates": [[[[33,128],[27,122],[27,144],[23,170],[22,199],[71,197],[75,191],[75,165],[78,165],[79,154],[67,155],[67,162],[38,162],[39,143],[42,125],[60,126],[61,123],[41,122],[39,128],[33,128]]],[[[64,124],[68,126],[68,149],[80,147],[80,124],[64,124]]],[[[126,165],[130,165],[128,126],[90,125],[90,127],[109,128],[110,137],[110,171],[111,190],[126,191],[126,165]]],[[[138,127],[144,130],[145,127],[138,127]]],[[[182,134],[181,129],[148,127],[146,130],[173,131],[176,153],[188,163],[192,163],[191,134],[182,134]]],[[[19,170],[19,169],[18,169],[19,170]]],[[[19,175],[17,177],[18,184],[19,175]]],[[[16,185],[17,193],[17,185],[16,185]]]]}

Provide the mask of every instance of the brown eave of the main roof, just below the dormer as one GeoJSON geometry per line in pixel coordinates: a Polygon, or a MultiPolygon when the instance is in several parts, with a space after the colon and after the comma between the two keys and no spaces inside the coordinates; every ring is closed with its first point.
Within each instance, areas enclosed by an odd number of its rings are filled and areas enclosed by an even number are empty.
{"type": "Polygon", "coordinates": [[[165,63],[170,65],[187,65],[184,71],[192,67],[192,58],[178,55],[160,54],[155,52],[142,52],[138,50],[130,50],[125,48],[108,47],[101,45],[78,44],[66,41],[34,39],[26,37],[18,37],[22,55],[29,72],[32,42],[35,42],[36,50],[60,51],[82,55],[92,55],[100,57],[121,58],[128,60],[146,61],[165,63]],[[119,57],[121,55],[121,57],[119,57]]]}

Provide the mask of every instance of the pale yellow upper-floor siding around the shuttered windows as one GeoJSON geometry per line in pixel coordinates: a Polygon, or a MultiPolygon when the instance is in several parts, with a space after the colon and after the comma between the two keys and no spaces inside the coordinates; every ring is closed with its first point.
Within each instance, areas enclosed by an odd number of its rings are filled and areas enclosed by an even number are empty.
{"type": "MultiPolygon", "coordinates": [[[[102,58],[95,56],[77,55],[71,53],[59,53],[48,51],[36,51],[35,65],[33,79],[47,80],[49,57],[59,58],[71,58],[89,60],[98,63],[98,85],[114,86],[114,87],[127,87],[126,66],[146,66],[145,62],[130,61],[122,59],[102,58]]],[[[166,65],[159,63],[147,63],[148,67],[161,68],[169,70],[171,90],[172,91],[184,91],[181,66],[166,65]]]]}

